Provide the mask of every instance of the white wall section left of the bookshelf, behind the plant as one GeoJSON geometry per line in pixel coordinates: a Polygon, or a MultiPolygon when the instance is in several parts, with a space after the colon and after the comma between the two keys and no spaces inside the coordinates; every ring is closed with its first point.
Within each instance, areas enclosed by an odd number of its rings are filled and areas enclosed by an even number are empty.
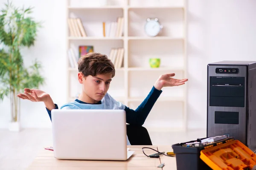
{"type": "MultiPolygon", "coordinates": [[[[7,0],[0,0],[0,8],[7,0]]],[[[30,65],[37,58],[43,65],[45,85],[40,89],[51,94],[59,105],[66,99],[66,3],[64,0],[12,0],[15,6],[34,6],[32,17],[43,21],[35,46],[22,51],[24,63],[30,65]]],[[[43,103],[21,100],[22,127],[51,127],[43,103]]],[[[0,128],[8,128],[9,99],[0,102],[0,128]]]]}

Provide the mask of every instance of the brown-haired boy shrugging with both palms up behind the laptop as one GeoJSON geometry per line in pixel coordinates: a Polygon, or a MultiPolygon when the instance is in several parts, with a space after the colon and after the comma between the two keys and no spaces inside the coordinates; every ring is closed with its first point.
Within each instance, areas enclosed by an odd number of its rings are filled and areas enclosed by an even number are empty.
{"type": "MultiPolygon", "coordinates": [[[[134,111],[113,99],[107,92],[112,78],[115,76],[113,63],[106,55],[89,53],[79,59],[78,81],[82,85],[82,91],[78,99],[61,106],[61,109],[123,109],[126,112],[126,122],[131,125],[142,126],[154,103],[166,86],[183,85],[188,79],[173,79],[175,74],[161,75],[155,82],[146,99],[134,111]]],[[[18,94],[21,99],[29,99],[32,102],[44,102],[49,117],[51,110],[58,109],[49,94],[36,89],[24,89],[24,94],[18,94]]],[[[127,138],[127,144],[130,142],[127,138]]]]}

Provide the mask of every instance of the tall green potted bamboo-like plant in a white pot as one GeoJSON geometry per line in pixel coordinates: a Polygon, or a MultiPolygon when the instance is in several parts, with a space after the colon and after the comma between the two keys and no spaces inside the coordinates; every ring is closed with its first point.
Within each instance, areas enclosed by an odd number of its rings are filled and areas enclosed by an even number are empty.
{"type": "Polygon", "coordinates": [[[20,99],[17,94],[25,87],[38,88],[44,82],[40,74],[41,64],[35,60],[25,68],[20,49],[34,45],[41,25],[29,17],[32,8],[16,8],[8,2],[0,12],[0,101],[9,96],[9,130],[19,131],[20,99]]]}

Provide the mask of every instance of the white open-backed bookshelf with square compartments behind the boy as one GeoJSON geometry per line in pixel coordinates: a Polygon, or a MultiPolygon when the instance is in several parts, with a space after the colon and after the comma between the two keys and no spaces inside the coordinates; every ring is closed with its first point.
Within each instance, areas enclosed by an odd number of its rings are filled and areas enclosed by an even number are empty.
{"type": "MultiPolygon", "coordinates": [[[[80,18],[87,34],[74,37],[67,29],[67,49],[75,49],[78,55],[79,45],[91,45],[95,52],[109,56],[111,48],[124,48],[122,67],[116,68],[108,91],[116,100],[136,109],[161,74],[175,73],[175,78],[187,78],[186,0],[106,0],[105,6],[92,6],[90,2],[67,0],[67,19],[80,18]],[[117,17],[124,18],[122,36],[104,37],[102,22],[115,22],[117,17]],[[148,37],[144,31],[146,19],[155,17],[163,30],[157,37],[148,37]],[[149,58],[160,58],[160,67],[150,68],[149,58]]],[[[67,102],[70,102],[76,99],[81,85],[77,81],[78,70],[70,68],[66,58],[67,102]]],[[[186,85],[163,88],[143,126],[149,131],[186,130],[186,88],[186,85]]]]}

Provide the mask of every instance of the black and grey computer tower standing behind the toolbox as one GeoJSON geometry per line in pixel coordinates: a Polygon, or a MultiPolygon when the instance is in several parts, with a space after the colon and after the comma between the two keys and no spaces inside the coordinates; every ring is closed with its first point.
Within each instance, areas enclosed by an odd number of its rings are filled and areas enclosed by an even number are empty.
{"type": "Polygon", "coordinates": [[[256,61],[221,61],[207,69],[207,137],[228,135],[256,151],[256,61]]]}

